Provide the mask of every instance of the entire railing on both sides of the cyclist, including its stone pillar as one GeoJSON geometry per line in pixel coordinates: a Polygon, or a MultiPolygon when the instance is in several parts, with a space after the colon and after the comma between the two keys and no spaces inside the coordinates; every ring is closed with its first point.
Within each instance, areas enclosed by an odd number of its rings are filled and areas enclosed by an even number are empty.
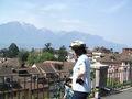
{"type": "MultiPolygon", "coordinates": [[[[90,97],[106,97],[132,86],[132,68],[120,70],[102,64],[92,65],[92,88],[100,87],[90,97]],[[95,75],[95,76],[94,76],[95,75]],[[96,77],[96,78],[95,78],[96,77]],[[111,88],[112,90],[105,90],[111,88]]],[[[0,75],[0,99],[59,99],[65,94],[64,82],[70,72],[28,73],[0,75]]],[[[105,98],[107,99],[107,98],[105,98]]]]}

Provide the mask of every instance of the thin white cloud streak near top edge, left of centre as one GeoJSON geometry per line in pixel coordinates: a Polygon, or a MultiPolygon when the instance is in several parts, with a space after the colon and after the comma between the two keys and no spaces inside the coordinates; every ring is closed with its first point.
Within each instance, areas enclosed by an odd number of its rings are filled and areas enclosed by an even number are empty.
{"type": "Polygon", "coordinates": [[[48,4],[43,8],[43,10],[64,10],[68,9],[68,6],[64,3],[54,3],[54,4],[48,4]]]}

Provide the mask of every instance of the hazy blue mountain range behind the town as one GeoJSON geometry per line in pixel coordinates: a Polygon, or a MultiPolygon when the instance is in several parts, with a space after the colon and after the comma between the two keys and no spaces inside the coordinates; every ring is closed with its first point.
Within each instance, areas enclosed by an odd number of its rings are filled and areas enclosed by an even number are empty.
{"type": "Polygon", "coordinates": [[[75,40],[84,41],[88,47],[105,46],[121,51],[127,45],[108,42],[98,35],[90,35],[77,31],[73,32],[52,32],[46,29],[36,29],[34,25],[20,22],[9,22],[0,25],[0,48],[8,47],[15,43],[22,48],[40,48],[45,43],[52,43],[53,47],[58,48],[62,45],[69,46],[75,40]]]}

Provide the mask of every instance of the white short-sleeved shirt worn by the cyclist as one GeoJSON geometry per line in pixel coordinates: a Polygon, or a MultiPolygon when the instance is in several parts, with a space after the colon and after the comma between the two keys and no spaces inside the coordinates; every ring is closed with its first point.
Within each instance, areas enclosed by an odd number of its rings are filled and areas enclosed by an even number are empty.
{"type": "Polygon", "coordinates": [[[85,54],[78,57],[78,61],[73,68],[73,89],[80,92],[90,92],[91,90],[90,62],[88,56],[85,54]],[[81,77],[81,79],[85,81],[82,85],[76,82],[77,75],[80,73],[80,69],[86,69],[86,74],[81,77]]]}

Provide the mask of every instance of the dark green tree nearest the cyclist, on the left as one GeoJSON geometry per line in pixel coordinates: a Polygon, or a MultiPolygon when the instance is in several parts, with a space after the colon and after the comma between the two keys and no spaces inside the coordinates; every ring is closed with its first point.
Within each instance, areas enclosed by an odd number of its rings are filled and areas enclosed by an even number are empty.
{"type": "Polygon", "coordinates": [[[58,61],[61,61],[61,62],[67,61],[67,51],[64,45],[61,46],[58,50],[58,61]]]}

